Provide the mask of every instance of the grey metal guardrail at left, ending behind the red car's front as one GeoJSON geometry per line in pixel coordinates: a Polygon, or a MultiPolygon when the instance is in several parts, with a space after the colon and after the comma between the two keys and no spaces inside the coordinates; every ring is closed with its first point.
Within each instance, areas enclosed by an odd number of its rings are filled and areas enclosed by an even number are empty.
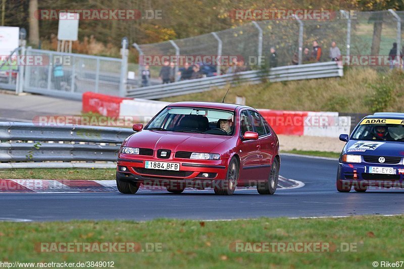
{"type": "Polygon", "coordinates": [[[94,162],[116,162],[122,141],[131,134],[127,128],[0,122],[0,169],[106,167],[94,162]],[[68,163],[37,163],[58,161],[68,163]],[[86,163],[70,163],[80,161],[86,163]]]}

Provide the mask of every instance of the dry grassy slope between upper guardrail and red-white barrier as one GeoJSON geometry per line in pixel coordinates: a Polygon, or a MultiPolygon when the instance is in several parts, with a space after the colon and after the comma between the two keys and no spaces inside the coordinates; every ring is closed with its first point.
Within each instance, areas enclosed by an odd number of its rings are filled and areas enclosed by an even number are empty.
{"type": "MultiPolygon", "coordinates": [[[[226,102],[234,102],[236,95],[245,96],[246,104],[259,109],[294,111],[337,111],[351,113],[372,112],[369,104],[373,86],[393,83],[393,101],[386,111],[402,112],[402,72],[378,73],[374,69],[355,67],[344,72],[342,78],[311,79],[232,87],[226,102]]],[[[164,98],[164,101],[215,101],[223,99],[228,87],[208,92],[164,98]]]]}

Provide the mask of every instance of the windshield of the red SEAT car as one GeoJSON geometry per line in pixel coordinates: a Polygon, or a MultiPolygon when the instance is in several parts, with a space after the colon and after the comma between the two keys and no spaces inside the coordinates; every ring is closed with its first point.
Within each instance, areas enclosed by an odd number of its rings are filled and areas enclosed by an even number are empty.
{"type": "Polygon", "coordinates": [[[234,112],[198,107],[167,107],[145,130],[232,135],[234,112]]]}

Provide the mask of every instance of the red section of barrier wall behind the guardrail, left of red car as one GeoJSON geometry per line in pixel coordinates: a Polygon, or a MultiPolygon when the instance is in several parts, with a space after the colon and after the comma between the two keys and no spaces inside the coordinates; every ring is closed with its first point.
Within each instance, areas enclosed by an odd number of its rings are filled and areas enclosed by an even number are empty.
{"type": "Polygon", "coordinates": [[[128,98],[87,91],[83,93],[83,112],[99,113],[111,117],[119,116],[120,104],[125,99],[128,98]]]}

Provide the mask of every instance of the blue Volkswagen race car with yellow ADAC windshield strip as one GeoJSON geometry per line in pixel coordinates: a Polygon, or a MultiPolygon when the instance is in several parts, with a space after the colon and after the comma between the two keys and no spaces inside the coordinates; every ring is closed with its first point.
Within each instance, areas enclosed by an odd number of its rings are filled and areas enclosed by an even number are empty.
{"type": "Polygon", "coordinates": [[[339,157],[338,191],[404,187],[404,113],[367,116],[350,136],[341,134],[339,139],[346,144],[339,157]]]}

